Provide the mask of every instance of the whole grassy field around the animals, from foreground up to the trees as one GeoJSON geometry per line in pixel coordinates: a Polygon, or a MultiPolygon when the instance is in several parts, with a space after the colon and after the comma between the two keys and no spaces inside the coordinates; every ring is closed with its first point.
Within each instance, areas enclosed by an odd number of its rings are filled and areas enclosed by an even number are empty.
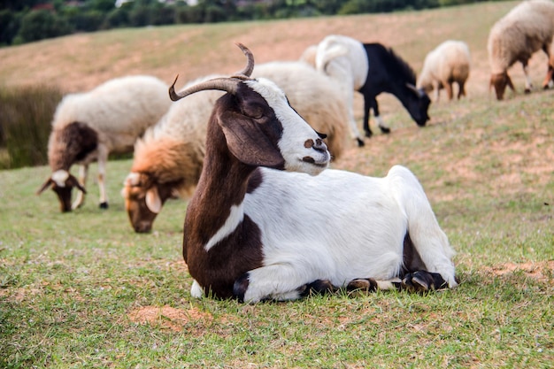
{"type": "MultiPolygon", "coordinates": [[[[186,202],[151,234],[135,234],[119,191],[131,160],[108,164],[110,209],[88,183],[83,208],[58,211],[35,191],[46,166],[0,171],[0,367],[7,368],[550,368],[554,363],[554,91],[497,102],[489,93],[489,28],[515,2],[425,12],[148,27],[0,49],[0,83],[65,92],[126,73],[187,81],[242,69],[234,42],[259,63],[298,58],[324,35],[392,46],[419,72],[445,39],[472,51],[468,96],[431,105],[419,128],[380,96],[390,135],[351,147],[335,168],[381,176],[408,166],[457,250],[458,288],[415,295],[310,296],[245,305],[190,297],[181,257],[186,202]]],[[[356,101],[361,120],[361,98],[356,101]]],[[[96,173],[93,165],[91,176],[96,173]]],[[[372,219],[366,219],[372,227],[372,219]]]]}

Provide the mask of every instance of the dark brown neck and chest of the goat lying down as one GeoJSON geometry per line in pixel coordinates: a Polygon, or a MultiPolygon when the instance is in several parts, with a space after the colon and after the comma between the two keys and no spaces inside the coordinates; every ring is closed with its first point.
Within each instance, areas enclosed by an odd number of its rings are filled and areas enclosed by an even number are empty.
{"type": "Polygon", "coordinates": [[[211,289],[216,296],[230,297],[233,283],[238,276],[261,265],[262,255],[257,243],[242,257],[243,251],[236,248],[250,248],[252,242],[242,238],[242,229],[249,228],[249,234],[258,234],[251,229],[250,219],[244,219],[229,235],[229,246],[214,246],[205,250],[205,245],[225,225],[233,205],[241,204],[247,192],[250,174],[255,167],[242,164],[227,149],[225,136],[217,122],[211,120],[208,128],[204,169],[196,192],[189,202],[183,232],[183,257],[189,266],[190,275],[201,286],[211,289]]]}

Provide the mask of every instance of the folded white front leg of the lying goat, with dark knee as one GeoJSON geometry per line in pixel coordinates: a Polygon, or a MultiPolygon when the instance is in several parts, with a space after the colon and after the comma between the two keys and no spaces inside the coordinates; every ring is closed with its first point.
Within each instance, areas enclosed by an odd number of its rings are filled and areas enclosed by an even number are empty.
{"type": "Polygon", "coordinates": [[[233,293],[239,301],[255,304],[262,300],[296,300],[335,289],[330,281],[304,281],[306,276],[301,274],[290,265],[262,266],[242,274],[235,281],[233,293]]]}

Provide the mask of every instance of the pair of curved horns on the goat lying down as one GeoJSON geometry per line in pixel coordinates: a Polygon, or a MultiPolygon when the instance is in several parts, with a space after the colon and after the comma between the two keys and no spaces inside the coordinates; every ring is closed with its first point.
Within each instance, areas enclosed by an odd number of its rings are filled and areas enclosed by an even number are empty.
{"type": "Polygon", "coordinates": [[[205,89],[218,89],[221,91],[229,92],[231,94],[235,94],[237,80],[250,80],[250,74],[254,70],[254,56],[252,55],[252,52],[240,42],[237,42],[236,45],[241,48],[242,52],[247,58],[247,64],[241,72],[236,73],[230,78],[214,78],[213,80],[197,83],[196,85],[185,88],[180,92],[175,92],[175,83],[179,78],[178,74],[175,77],[175,81],[173,81],[173,84],[169,88],[169,97],[173,101],[177,101],[185,96],[192,95],[199,91],[204,91],[205,89]]]}

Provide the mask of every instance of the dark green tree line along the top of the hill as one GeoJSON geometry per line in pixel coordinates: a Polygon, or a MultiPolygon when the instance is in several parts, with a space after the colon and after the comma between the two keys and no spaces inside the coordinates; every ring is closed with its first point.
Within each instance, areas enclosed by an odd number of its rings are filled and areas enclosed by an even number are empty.
{"type": "Polygon", "coordinates": [[[419,10],[479,0],[0,0],[0,46],[119,27],[419,10]]]}

